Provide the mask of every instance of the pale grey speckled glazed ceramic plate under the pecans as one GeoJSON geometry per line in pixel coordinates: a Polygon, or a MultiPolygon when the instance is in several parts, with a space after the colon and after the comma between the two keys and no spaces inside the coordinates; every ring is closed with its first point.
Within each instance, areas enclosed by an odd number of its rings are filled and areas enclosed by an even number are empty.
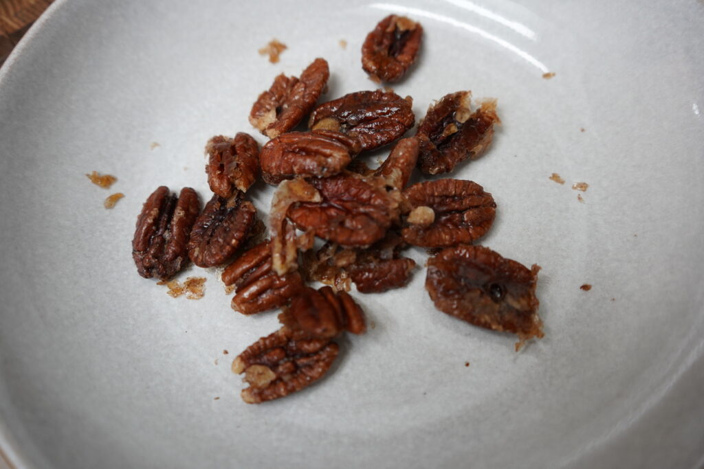
{"type": "MultiPolygon", "coordinates": [[[[702,20],[696,0],[58,0],[0,70],[3,451],[38,469],[701,467],[702,20]],[[425,30],[394,85],[417,118],[453,91],[498,98],[494,143],[454,176],[494,195],[482,244],[542,266],[546,335],[515,353],[437,311],[410,250],[406,288],[352,292],[375,328],[324,380],[244,404],[230,363],[276,314],[232,311],[216,271],[182,275],[208,279],[198,301],[140,278],[135,217],[162,184],[209,198],[203,146],[263,143],[247,116],[279,72],[324,57],[327,98],[375,89],[360,47],[391,12],[425,30]]],[[[260,212],[271,195],[253,187],[260,212]]]]}

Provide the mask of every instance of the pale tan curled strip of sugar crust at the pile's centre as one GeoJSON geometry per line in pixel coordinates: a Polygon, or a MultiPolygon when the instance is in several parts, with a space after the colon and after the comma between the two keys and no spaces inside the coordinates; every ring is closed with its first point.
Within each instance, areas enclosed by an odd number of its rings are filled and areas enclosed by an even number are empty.
{"type": "Polygon", "coordinates": [[[283,181],[271,200],[269,227],[271,233],[272,267],[279,275],[298,268],[298,249],[306,251],[313,247],[312,231],[296,236],[296,229],[286,219],[291,204],[306,201],[320,202],[318,190],[303,179],[283,181]]]}

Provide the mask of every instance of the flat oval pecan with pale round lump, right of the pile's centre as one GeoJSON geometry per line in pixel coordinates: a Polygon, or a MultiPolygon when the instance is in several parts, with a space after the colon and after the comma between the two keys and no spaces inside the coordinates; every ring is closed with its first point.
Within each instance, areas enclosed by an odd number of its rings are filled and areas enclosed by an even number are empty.
{"type": "Polygon", "coordinates": [[[489,231],[496,217],[494,198],[472,181],[425,181],[403,191],[403,198],[410,214],[401,236],[422,248],[471,243],[489,231]]]}

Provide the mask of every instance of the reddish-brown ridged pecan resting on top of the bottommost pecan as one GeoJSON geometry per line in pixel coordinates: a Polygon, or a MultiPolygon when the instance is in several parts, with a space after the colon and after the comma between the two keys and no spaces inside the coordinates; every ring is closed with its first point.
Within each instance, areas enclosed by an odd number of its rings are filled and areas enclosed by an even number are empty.
{"type": "Polygon", "coordinates": [[[367,330],[362,309],[352,297],[345,291],[335,293],[327,285],[319,290],[304,288],[279,314],[279,321],[315,338],[334,338],[345,330],[353,334],[367,330]]]}

